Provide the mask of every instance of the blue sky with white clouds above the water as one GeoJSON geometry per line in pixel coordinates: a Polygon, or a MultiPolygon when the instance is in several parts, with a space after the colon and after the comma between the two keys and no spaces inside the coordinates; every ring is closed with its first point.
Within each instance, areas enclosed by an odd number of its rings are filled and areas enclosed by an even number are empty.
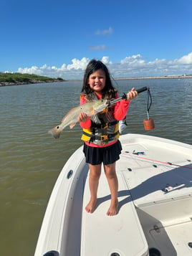
{"type": "Polygon", "coordinates": [[[82,79],[192,74],[191,0],[2,0],[0,72],[82,79]]]}

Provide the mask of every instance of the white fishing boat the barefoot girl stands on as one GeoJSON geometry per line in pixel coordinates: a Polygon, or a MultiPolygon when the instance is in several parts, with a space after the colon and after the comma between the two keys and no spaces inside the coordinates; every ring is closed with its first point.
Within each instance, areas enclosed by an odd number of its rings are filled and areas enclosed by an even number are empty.
{"type": "Polygon", "coordinates": [[[65,163],[44,214],[35,256],[192,255],[192,146],[142,134],[120,136],[117,215],[102,169],[95,212],[82,146],[65,163]]]}

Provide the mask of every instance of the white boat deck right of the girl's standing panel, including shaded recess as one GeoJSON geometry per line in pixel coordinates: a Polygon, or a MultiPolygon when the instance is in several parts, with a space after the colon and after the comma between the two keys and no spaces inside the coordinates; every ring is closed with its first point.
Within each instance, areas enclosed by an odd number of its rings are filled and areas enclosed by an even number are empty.
{"type": "Polygon", "coordinates": [[[192,146],[182,148],[182,143],[158,138],[151,143],[152,138],[122,141],[117,170],[128,184],[149,248],[155,247],[165,256],[189,256],[192,146]]]}

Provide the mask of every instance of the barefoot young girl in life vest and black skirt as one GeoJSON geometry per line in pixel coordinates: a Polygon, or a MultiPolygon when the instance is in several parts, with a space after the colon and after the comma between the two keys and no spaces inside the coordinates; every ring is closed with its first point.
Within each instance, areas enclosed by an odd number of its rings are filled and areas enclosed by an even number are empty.
{"type": "MultiPolygon", "coordinates": [[[[90,167],[90,202],[85,207],[92,213],[97,202],[97,188],[99,184],[101,166],[103,163],[107,182],[110,187],[111,204],[107,215],[117,214],[118,181],[115,172],[115,162],[120,158],[122,150],[118,131],[118,121],[123,120],[128,111],[130,100],[137,97],[133,88],[127,95],[127,100],[117,102],[105,113],[97,113],[88,117],[80,113],[79,122],[83,128],[82,140],[85,141],[83,152],[90,167]]],[[[118,98],[117,90],[112,86],[107,67],[99,60],[91,60],[85,70],[80,104],[92,100],[118,98]]]]}

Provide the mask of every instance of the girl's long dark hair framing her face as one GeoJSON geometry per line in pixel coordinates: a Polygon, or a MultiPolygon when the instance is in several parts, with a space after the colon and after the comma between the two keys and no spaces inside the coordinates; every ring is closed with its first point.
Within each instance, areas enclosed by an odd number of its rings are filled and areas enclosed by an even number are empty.
{"type": "Polygon", "coordinates": [[[83,79],[83,85],[82,85],[82,93],[90,94],[93,93],[93,90],[90,88],[90,85],[88,85],[89,77],[92,73],[94,73],[97,70],[103,70],[105,72],[105,87],[102,90],[102,98],[115,98],[115,95],[117,93],[117,90],[115,87],[112,86],[112,82],[110,80],[110,72],[100,60],[90,60],[90,62],[87,65],[87,68],[85,70],[85,75],[83,79]]]}

